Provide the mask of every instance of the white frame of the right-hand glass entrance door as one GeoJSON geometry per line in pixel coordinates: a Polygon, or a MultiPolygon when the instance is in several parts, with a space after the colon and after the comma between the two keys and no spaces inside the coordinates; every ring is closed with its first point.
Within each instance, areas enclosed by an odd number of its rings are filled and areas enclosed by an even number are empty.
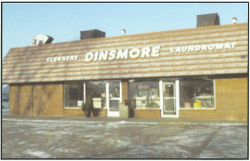
{"type": "Polygon", "coordinates": [[[163,81],[167,80],[160,80],[159,81],[159,91],[160,91],[160,109],[161,109],[161,117],[179,117],[179,109],[180,109],[180,92],[179,92],[179,80],[175,80],[175,115],[166,115],[163,113],[163,81]]]}

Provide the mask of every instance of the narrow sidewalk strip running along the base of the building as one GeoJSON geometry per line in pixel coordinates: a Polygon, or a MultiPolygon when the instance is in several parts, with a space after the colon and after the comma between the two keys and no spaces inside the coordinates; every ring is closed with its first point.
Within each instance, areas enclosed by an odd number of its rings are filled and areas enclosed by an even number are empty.
{"type": "Polygon", "coordinates": [[[167,125],[217,125],[247,126],[247,120],[205,120],[185,118],[119,118],[119,117],[49,117],[49,116],[14,116],[2,114],[2,121],[34,121],[34,122],[82,122],[87,124],[167,124],[167,125]]]}

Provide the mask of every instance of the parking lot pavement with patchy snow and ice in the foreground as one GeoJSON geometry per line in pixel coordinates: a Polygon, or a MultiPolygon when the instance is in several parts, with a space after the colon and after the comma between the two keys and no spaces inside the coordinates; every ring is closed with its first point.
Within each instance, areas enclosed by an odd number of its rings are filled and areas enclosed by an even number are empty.
{"type": "Polygon", "coordinates": [[[247,159],[247,136],[242,122],[4,116],[2,158],[247,159]]]}

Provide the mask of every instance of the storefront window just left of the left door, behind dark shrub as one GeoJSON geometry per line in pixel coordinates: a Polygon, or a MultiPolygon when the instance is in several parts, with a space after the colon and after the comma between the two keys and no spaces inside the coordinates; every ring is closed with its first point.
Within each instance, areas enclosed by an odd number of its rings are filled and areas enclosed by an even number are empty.
{"type": "MultiPolygon", "coordinates": [[[[86,99],[91,94],[94,108],[104,108],[106,105],[106,81],[90,81],[86,83],[86,99]]],[[[86,100],[87,101],[87,100],[86,100]]]]}

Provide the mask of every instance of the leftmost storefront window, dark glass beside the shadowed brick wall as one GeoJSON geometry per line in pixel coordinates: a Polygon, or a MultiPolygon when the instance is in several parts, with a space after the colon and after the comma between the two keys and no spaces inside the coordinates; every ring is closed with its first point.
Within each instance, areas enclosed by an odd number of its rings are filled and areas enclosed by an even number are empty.
{"type": "Polygon", "coordinates": [[[83,83],[64,84],[64,107],[81,108],[83,102],[83,83]]]}

